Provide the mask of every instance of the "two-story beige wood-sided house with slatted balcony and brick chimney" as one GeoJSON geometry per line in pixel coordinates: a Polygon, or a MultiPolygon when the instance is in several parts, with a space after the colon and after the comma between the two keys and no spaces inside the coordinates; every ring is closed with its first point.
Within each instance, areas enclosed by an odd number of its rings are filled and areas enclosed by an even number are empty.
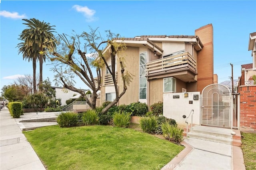
{"type": "MultiPolygon", "coordinates": [[[[163,101],[165,93],[202,92],[209,84],[218,83],[213,73],[213,27],[205,25],[195,35],[143,35],[115,39],[127,46],[122,54],[126,70],[134,75],[118,105],[144,102],[148,106],[163,101]]],[[[104,56],[111,65],[109,47],[104,56]]],[[[116,78],[122,90],[120,66],[116,59],[116,78]]],[[[101,102],[115,99],[111,75],[102,69],[101,102]]]]}

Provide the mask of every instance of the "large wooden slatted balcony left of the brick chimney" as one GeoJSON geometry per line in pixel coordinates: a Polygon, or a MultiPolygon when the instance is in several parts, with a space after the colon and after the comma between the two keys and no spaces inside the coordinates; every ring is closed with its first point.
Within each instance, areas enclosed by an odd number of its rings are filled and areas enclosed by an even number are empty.
{"type": "Polygon", "coordinates": [[[183,82],[195,82],[196,59],[188,52],[165,57],[146,63],[146,72],[148,80],[174,76],[183,82]]]}

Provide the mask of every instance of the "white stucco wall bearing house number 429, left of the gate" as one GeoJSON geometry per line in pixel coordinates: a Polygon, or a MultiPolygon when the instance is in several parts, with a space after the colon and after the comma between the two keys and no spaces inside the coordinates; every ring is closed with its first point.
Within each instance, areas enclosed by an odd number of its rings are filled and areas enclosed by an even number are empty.
{"type": "MultiPolygon", "coordinates": [[[[181,127],[186,127],[186,118],[182,116],[188,117],[192,109],[194,109],[193,124],[200,125],[200,92],[189,92],[188,97],[184,97],[184,93],[163,95],[163,115],[175,119],[181,127]],[[198,95],[198,100],[193,99],[194,94],[198,95]],[[174,95],[178,95],[179,98],[173,98],[174,95]],[[189,104],[189,101],[192,101],[193,104],[189,104]]],[[[188,118],[188,123],[191,123],[191,117],[188,118]]]]}

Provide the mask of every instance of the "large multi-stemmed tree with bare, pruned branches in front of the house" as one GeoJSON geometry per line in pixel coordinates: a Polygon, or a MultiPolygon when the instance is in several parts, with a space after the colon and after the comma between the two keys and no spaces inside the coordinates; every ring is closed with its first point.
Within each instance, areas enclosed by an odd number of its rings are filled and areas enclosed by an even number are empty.
{"type": "Polygon", "coordinates": [[[51,61],[56,61],[54,68],[52,68],[57,73],[55,76],[56,82],[61,83],[64,88],[81,94],[92,109],[96,108],[97,92],[100,90],[102,84],[101,70],[106,66],[114,82],[116,99],[102,109],[102,113],[106,113],[110,107],[118,102],[132,80],[131,74],[127,71],[125,72],[125,56],[122,54],[126,49],[125,43],[117,43],[116,39],[122,40],[122,38],[119,35],[114,35],[110,31],[106,32],[108,37],[106,41],[103,41],[100,34],[97,34],[97,29],[92,28],[90,28],[90,32],[83,32],[81,35],[71,36],[70,41],[68,41],[67,35],[62,34],[58,36],[58,40],[60,41],[59,50],[54,51],[53,49],[52,51],[48,51],[54,56],[50,58],[51,61]],[[82,43],[83,40],[85,43],[82,43]],[[81,44],[85,44],[85,46],[81,48],[81,44]],[[101,48],[101,45],[104,44],[107,46],[106,53],[101,48]],[[90,50],[89,55],[86,54],[87,48],[90,50]],[[76,53],[79,57],[74,56],[76,53]],[[106,61],[107,55],[110,56],[112,67],[106,61]],[[120,64],[123,89],[118,89],[117,86],[115,77],[116,68],[114,67],[116,59],[120,64]],[[96,70],[96,78],[92,74],[91,66],[96,70]],[[86,94],[81,89],[74,87],[74,81],[72,80],[74,75],[78,76],[92,90],[91,101],[88,100],[86,94]]]}

